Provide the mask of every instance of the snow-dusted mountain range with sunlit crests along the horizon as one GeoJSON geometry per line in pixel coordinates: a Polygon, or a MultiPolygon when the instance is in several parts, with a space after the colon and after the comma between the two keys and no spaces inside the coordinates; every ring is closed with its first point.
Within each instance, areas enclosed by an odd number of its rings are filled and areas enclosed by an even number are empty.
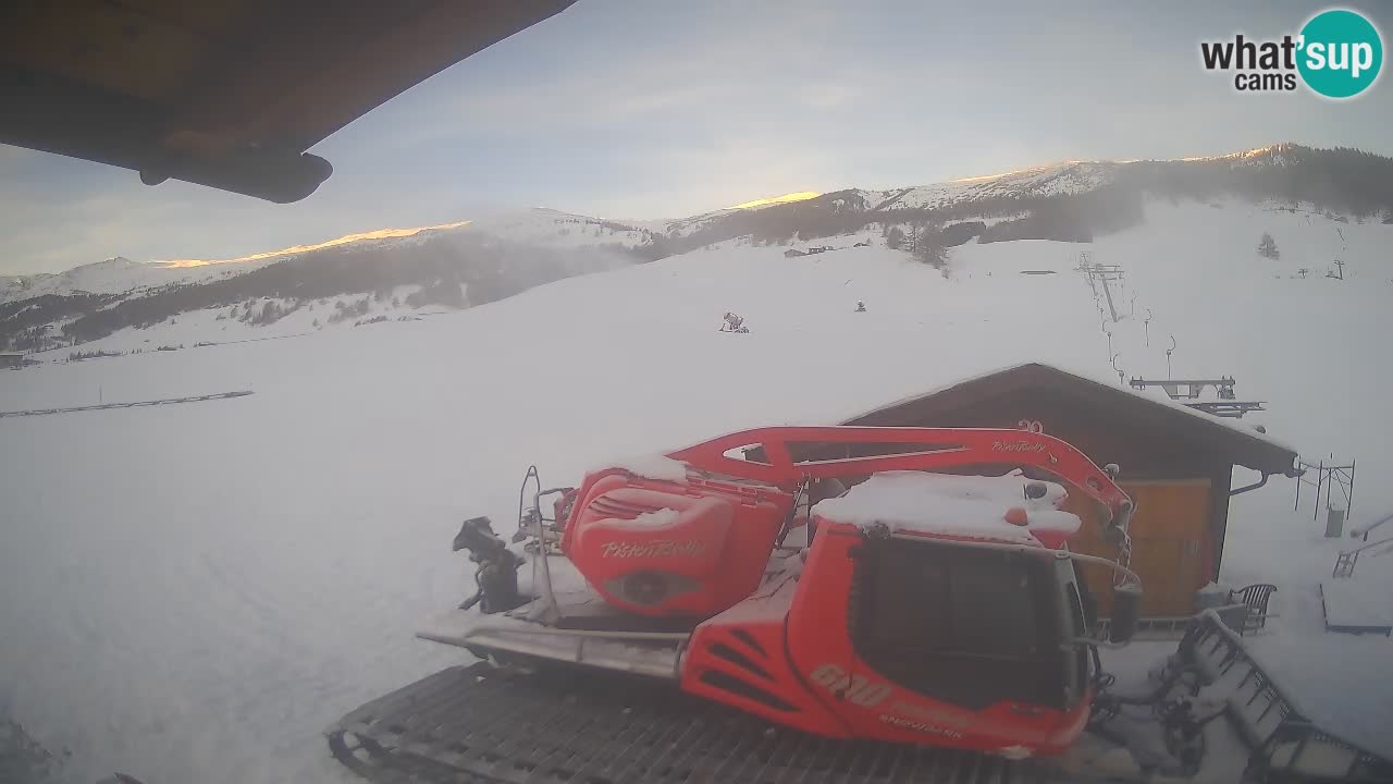
{"type": "Polygon", "coordinates": [[[54,349],[123,331],[141,332],[116,340],[127,349],[187,343],[187,324],[167,329],[181,317],[223,322],[208,340],[405,318],[422,307],[478,306],[559,278],[730,241],[790,244],[896,227],[911,237],[942,227],[944,246],[1091,241],[1141,225],[1152,199],[1240,199],[1344,223],[1383,222],[1393,220],[1390,183],[1387,158],[1283,144],[1215,158],[1064,162],[932,186],[790,194],[681,220],[531,209],[240,259],[113,258],[61,275],[0,279],[0,349],[47,349],[52,359],[67,356],[54,349]],[[309,315],[316,306],[327,310],[309,315]]]}

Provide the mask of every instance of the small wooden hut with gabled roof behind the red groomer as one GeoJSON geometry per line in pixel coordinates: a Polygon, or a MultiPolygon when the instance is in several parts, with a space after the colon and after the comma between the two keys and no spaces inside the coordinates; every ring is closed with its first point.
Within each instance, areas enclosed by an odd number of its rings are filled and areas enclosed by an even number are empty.
{"type": "MultiPolygon", "coordinates": [[[[1142,614],[1152,618],[1190,615],[1198,589],[1217,578],[1231,495],[1269,476],[1297,476],[1295,452],[1251,425],[1043,364],[990,372],[843,424],[1031,428],[1073,444],[1099,466],[1117,463],[1119,483],[1137,504],[1131,564],[1142,578],[1142,614]],[[1234,488],[1234,466],[1261,480],[1234,488]]],[[[1116,555],[1092,509],[1080,502],[1073,511],[1085,519],[1071,547],[1116,555]]],[[[1106,615],[1110,572],[1085,572],[1106,615]]]]}

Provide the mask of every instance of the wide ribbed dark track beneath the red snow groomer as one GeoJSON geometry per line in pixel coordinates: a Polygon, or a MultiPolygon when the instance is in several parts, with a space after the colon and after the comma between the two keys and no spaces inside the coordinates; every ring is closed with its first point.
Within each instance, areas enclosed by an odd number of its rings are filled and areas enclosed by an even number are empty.
{"type": "Polygon", "coordinates": [[[329,730],[340,762],[379,783],[1056,784],[1032,760],[834,741],[671,686],[603,674],[451,667],[329,730]]]}

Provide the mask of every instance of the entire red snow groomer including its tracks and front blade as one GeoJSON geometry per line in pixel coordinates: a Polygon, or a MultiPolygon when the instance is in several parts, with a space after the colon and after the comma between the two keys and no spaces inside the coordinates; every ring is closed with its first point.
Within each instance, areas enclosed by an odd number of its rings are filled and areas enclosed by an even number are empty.
{"type": "Polygon", "coordinates": [[[467,520],[478,590],[418,632],[482,661],[329,746],[384,784],[1393,780],[1283,696],[1243,617],[1103,671],[1141,597],[1116,474],[1038,432],[875,427],[737,432],[579,487],[532,467],[513,544],[467,520]],[[1070,551],[1088,508],[1117,561],[1070,551]],[[1106,640],[1080,562],[1114,575],[1106,640]]]}

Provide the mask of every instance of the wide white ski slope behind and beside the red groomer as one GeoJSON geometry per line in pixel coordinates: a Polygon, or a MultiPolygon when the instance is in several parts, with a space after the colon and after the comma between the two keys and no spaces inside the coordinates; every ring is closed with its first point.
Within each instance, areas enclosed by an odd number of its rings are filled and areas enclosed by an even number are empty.
{"type": "MultiPolygon", "coordinates": [[[[1354,525],[1393,509],[1393,226],[1152,204],[1088,248],[1127,271],[1123,315],[1137,296],[1112,353],[1073,271],[1082,246],[964,246],[944,276],[862,237],[876,244],[793,259],[726,243],[422,321],[0,372],[0,410],[255,392],[0,419],[0,711],[70,749],[71,781],[350,781],[320,731],[460,660],[412,632],[471,586],[458,522],[511,530],[528,465],[559,484],[1022,361],[1116,381],[1120,353],[1127,377],[1163,374],[1172,335],[1174,375],[1233,375],[1268,400],[1244,424],[1358,458],[1354,525]],[[1280,261],[1254,252],[1262,232],[1280,261]],[[1321,278],[1336,257],[1343,282],[1321,278]],[[717,332],[727,310],[749,333],[717,332]]],[[[1283,632],[1254,644],[1343,688],[1326,670],[1346,667],[1301,657],[1328,646],[1353,668],[1393,649],[1311,626],[1337,543],[1291,497],[1275,478],[1234,499],[1224,578],[1277,582],[1283,632]]],[[[1371,558],[1355,583],[1393,596],[1393,564],[1371,558]]],[[[1368,734],[1393,721],[1386,679],[1344,704],[1368,734]]]]}

